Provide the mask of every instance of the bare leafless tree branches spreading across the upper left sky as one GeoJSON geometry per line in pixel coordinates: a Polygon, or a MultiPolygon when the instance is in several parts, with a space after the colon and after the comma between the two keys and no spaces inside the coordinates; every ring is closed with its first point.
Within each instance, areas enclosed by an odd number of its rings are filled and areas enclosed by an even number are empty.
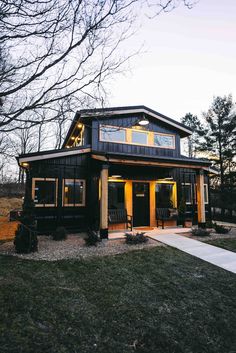
{"type": "Polygon", "coordinates": [[[181,2],[190,6],[186,0],[2,0],[0,130],[40,124],[36,111],[41,117],[47,111],[44,122],[53,120],[68,97],[70,111],[85,97],[98,101],[104,80],[132,55],[118,48],[132,34],[139,6],[159,14],[181,2]]]}

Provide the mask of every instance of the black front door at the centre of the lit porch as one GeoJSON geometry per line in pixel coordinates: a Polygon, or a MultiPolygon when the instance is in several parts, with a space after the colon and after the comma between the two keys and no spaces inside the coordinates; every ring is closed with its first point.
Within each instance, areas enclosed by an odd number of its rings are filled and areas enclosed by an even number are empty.
{"type": "Polygon", "coordinates": [[[149,183],[133,183],[133,225],[150,225],[149,183]]]}

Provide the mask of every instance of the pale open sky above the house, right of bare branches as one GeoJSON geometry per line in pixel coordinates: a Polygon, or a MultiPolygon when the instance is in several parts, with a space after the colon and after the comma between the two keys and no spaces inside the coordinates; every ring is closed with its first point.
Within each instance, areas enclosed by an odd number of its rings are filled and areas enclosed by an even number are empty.
{"type": "Polygon", "coordinates": [[[110,82],[109,106],[146,105],[173,119],[201,117],[214,96],[236,101],[236,0],[199,0],[150,20],[126,42],[142,53],[110,82]]]}

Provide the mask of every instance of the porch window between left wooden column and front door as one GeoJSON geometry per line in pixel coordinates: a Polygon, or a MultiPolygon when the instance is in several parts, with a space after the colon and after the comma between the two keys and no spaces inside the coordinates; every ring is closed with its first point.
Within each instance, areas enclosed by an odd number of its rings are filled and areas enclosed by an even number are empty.
{"type": "Polygon", "coordinates": [[[108,208],[109,209],[125,208],[125,183],[122,183],[122,182],[108,183],[108,208]]]}

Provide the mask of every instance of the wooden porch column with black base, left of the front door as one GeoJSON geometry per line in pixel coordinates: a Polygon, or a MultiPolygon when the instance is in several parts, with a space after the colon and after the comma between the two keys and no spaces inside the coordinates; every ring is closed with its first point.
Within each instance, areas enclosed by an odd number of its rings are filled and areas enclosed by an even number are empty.
{"type": "Polygon", "coordinates": [[[100,174],[101,198],[100,198],[100,237],[108,238],[108,165],[103,164],[100,174]]]}

